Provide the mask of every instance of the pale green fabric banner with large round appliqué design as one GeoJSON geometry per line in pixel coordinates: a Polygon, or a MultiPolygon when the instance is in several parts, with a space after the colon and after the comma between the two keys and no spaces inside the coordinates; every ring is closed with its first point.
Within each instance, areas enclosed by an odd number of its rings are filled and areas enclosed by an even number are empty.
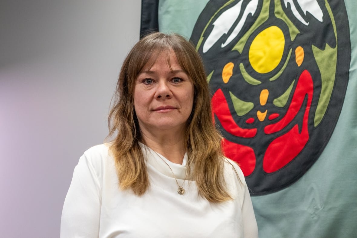
{"type": "Polygon", "coordinates": [[[355,0],[159,0],[159,31],[191,39],[205,62],[262,238],[357,236],[356,10],[355,0]]]}

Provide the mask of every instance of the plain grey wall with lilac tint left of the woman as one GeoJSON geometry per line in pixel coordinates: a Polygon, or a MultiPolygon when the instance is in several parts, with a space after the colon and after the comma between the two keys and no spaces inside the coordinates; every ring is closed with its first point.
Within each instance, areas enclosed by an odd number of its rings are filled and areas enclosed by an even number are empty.
{"type": "Polygon", "coordinates": [[[0,2],[1,237],[59,237],[73,169],[107,135],[140,4],[0,2]]]}

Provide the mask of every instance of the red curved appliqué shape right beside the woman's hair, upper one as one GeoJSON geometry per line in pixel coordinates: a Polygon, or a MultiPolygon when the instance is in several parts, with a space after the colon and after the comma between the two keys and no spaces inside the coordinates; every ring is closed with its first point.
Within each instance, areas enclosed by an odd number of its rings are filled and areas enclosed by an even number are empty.
{"type": "Polygon", "coordinates": [[[220,121],[223,129],[228,133],[243,137],[243,138],[252,138],[257,134],[257,129],[243,129],[237,125],[233,120],[232,114],[229,110],[226,97],[224,96],[221,89],[218,89],[212,97],[212,117],[215,119],[214,114],[216,114],[218,120],[220,121]]]}

